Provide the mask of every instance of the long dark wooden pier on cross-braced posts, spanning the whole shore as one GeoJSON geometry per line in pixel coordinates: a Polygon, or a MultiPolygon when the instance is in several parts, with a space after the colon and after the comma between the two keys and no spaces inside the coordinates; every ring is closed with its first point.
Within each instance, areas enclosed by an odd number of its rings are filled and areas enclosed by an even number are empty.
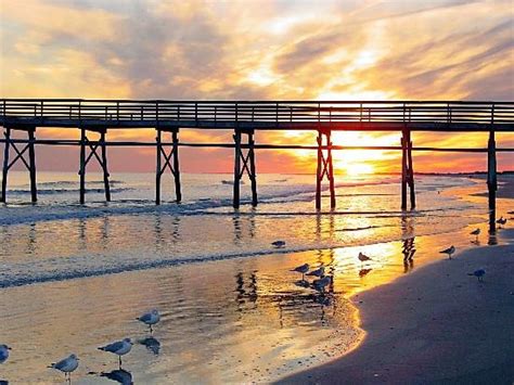
{"type": "MultiPolygon", "coordinates": [[[[496,132],[514,132],[514,102],[451,101],[165,101],[165,100],[78,100],[78,99],[0,99],[0,125],[4,127],[1,202],[7,201],[8,176],[11,167],[22,162],[30,176],[31,202],[37,202],[36,146],[80,146],[79,201],[86,201],[86,170],[95,159],[103,172],[105,200],[111,201],[107,147],[154,146],[156,151],[155,203],[160,204],[160,178],[169,170],[175,181],[176,200],[182,200],[179,147],[234,149],[233,206],[240,207],[241,178],[247,174],[252,188],[252,204],[257,200],[256,150],[312,150],[318,152],[316,207],[321,209],[322,183],[329,182],[330,205],[336,206],[333,151],[396,150],[401,152],[402,209],[415,207],[412,152],[487,153],[489,208],[494,211],[497,191],[497,153],[514,152],[499,149],[496,132]],[[37,139],[39,127],[80,130],[80,140],[37,139]],[[155,142],[107,141],[115,129],[147,129],[156,132],[155,142]],[[227,129],[233,132],[233,143],[180,142],[180,130],[227,129]],[[27,133],[26,139],[13,139],[13,130],[27,133]],[[307,130],[318,133],[317,143],[305,145],[255,143],[255,132],[265,130],[307,130]],[[361,146],[355,143],[333,144],[333,131],[396,131],[398,146],[361,146]],[[421,147],[414,146],[411,133],[488,132],[487,147],[421,147]],[[90,139],[91,136],[98,139],[90,139]],[[170,141],[163,139],[170,136],[170,141]],[[12,150],[12,151],[11,151],[12,150]],[[11,158],[11,153],[13,157],[11,158]]],[[[485,161],[486,164],[486,161],[485,161]]]]}

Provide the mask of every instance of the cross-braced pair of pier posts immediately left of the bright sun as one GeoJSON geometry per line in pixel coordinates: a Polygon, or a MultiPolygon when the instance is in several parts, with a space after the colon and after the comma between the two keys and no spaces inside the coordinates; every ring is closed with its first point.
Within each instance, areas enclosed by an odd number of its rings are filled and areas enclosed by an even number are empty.
{"type": "Polygon", "coordinates": [[[318,167],[316,171],[316,209],[321,209],[321,184],[326,176],[329,179],[330,206],[335,208],[335,183],[334,183],[334,165],[332,161],[332,141],[331,131],[318,131],[318,167]],[[323,137],[326,138],[326,156],[323,152],[323,137]]]}

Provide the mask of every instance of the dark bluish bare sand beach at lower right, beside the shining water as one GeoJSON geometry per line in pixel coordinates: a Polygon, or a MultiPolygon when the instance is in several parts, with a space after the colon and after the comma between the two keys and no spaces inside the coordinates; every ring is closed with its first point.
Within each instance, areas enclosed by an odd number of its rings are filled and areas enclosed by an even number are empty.
{"type": "Polygon", "coordinates": [[[465,249],[352,295],[362,344],[277,383],[512,384],[514,230],[501,238],[507,243],[465,249]],[[484,283],[467,275],[477,268],[487,271],[484,283]]]}

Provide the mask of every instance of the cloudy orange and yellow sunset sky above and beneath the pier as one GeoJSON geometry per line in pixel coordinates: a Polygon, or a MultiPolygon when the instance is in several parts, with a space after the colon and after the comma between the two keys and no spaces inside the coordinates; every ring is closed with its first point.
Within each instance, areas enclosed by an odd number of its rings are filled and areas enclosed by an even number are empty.
{"type": "MultiPolygon", "coordinates": [[[[0,0],[1,98],[514,101],[514,1],[0,0]]],[[[38,138],[77,130],[38,129],[38,138]]],[[[153,140],[153,130],[108,140],[153,140]]],[[[500,146],[514,147],[514,134],[500,146]]],[[[231,132],[182,130],[183,141],[231,132]]],[[[314,144],[313,133],[257,142],[314,144]]],[[[340,145],[397,145],[342,132],[340,145]]],[[[416,132],[414,145],[477,146],[485,134],[416,132]]],[[[340,174],[400,171],[398,152],[336,152],[340,174]]],[[[77,149],[38,147],[40,170],[78,169],[77,149]]],[[[155,150],[110,149],[113,171],[153,171],[155,150]]],[[[233,153],[181,149],[190,172],[230,172],[233,153]]],[[[486,155],[415,153],[415,171],[486,168],[486,155]]],[[[499,156],[514,169],[513,155],[499,156]]],[[[259,151],[257,172],[313,172],[316,152],[259,151]]]]}

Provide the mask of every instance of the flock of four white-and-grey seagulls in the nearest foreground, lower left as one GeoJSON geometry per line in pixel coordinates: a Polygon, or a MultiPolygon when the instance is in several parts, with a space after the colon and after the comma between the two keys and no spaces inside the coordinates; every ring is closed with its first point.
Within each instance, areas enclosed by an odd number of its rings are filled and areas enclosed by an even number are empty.
{"type": "MultiPolygon", "coordinates": [[[[157,324],[160,321],[160,315],[158,310],[154,309],[150,312],[142,315],[137,318],[138,321],[150,326],[150,332],[153,332],[152,326],[157,324]]],[[[99,350],[107,351],[118,356],[119,368],[121,369],[121,356],[127,355],[132,349],[132,341],[130,338],[124,338],[121,341],[114,342],[112,344],[99,347],[99,350]]],[[[9,358],[9,351],[11,347],[8,345],[0,345],[0,363],[4,363],[9,358]]],[[[65,380],[70,381],[72,372],[78,368],[79,358],[77,355],[69,355],[68,357],[62,359],[61,361],[51,363],[48,368],[59,370],[64,373],[65,380]]]]}

